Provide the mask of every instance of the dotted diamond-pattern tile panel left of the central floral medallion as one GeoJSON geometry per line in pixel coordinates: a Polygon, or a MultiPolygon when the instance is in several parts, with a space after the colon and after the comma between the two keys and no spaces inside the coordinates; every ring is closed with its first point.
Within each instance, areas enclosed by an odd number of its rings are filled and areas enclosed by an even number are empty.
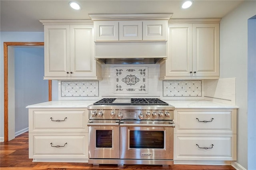
{"type": "Polygon", "coordinates": [[[61,97],[99,96],[98,81],[61,81],[61,97]]]}

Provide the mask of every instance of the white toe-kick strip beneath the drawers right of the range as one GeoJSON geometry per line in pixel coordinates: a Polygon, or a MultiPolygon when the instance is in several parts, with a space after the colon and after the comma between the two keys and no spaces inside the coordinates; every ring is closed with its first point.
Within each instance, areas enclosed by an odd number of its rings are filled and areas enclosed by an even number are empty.
{"type": "Polygon", "coordinates": [[[231,165],[230,160],[174,160],[174,164],[182,165],[231,165]]]}

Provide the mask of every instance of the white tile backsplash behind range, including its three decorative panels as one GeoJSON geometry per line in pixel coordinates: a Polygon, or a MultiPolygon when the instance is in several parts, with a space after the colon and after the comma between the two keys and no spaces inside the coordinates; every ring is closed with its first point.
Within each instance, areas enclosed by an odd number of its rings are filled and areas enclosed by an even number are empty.
{"type": "Polygon", "coordinates": [[[102,65],[102,81],[58,81],[59,99],[202,99],[204,80],[159,80],[159,65],[102,65]]]}

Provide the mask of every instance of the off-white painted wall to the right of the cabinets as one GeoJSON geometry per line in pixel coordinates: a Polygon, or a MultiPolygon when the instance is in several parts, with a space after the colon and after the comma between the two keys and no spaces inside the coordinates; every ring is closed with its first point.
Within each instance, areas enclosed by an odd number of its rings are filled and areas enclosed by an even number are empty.
{"type": "MultiPolygon", "coordinates": [[[[247,145],[247,20],[256,1],[245,1],[220,21],[220,78],[236,77],[238,111],[237,163],[248,168],[247,145]]],[[[255,158],[249,158],[255,161],[255,158]]]]}

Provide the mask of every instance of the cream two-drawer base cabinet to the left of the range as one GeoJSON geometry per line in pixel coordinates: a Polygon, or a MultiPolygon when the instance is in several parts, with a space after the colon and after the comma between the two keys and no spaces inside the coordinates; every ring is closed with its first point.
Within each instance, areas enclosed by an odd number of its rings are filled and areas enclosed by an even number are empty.
{"type": "Polygon", "coordinates": [[[29,158],[37,162],[88,162],[86,108],[30,108],[29,158]]]}

